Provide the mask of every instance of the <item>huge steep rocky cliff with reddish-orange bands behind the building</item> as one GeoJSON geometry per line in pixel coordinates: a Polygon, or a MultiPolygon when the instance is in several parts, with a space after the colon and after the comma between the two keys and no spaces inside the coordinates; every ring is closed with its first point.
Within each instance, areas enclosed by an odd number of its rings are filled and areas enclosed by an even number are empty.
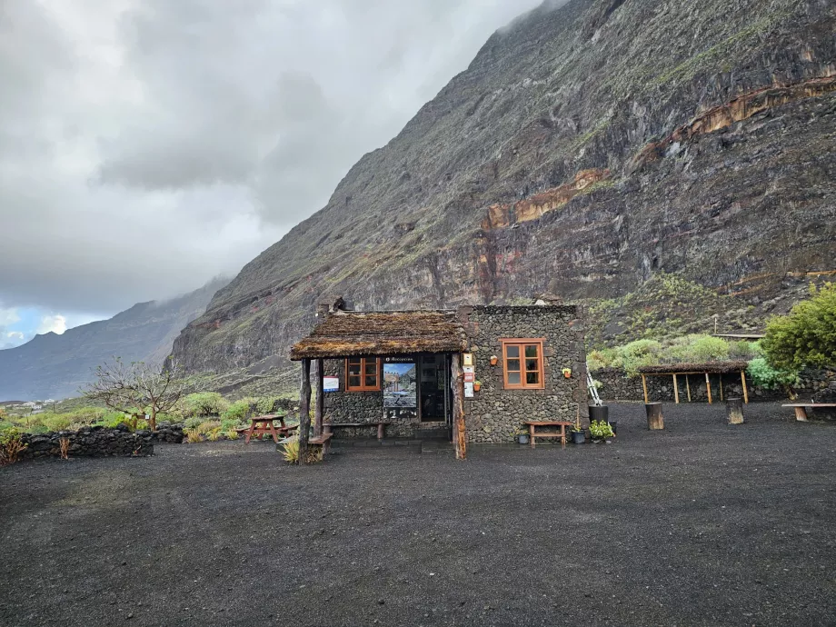
{"type": "Polygon", "coordinates": [[[525,15],[174,354],[192,372],[280,364],[335,294],[368,309],[605,299],[662,274],[757,323],[836,270],[834,29],[828,0],[525,15]]]}

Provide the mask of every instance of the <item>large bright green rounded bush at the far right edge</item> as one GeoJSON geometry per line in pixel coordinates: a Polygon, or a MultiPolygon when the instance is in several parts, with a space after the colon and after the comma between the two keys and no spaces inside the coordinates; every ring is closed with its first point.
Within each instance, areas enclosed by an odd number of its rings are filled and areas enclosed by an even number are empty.
{"type": "Polygon", "coordinates": [[[809,300],[772,318],[762,346],[771,366],[786,372],[836,365],[836,284],[811,287],[809,300]]]}

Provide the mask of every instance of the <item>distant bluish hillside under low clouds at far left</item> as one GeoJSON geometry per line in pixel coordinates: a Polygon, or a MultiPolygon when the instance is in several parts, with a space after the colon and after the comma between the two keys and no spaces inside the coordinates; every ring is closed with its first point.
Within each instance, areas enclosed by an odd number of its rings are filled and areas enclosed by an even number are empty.
{"type": "Polygon", "coordinates": [[[114,355],[127,362],[164,359],[177,333],[204,314],[214,293],[227,283],[215,280],[170,301],[135,304],[110,320],[63,335],[36,335],[22,346],[0,351],[0,400],[76,395],[95,366],[114,355]]]}

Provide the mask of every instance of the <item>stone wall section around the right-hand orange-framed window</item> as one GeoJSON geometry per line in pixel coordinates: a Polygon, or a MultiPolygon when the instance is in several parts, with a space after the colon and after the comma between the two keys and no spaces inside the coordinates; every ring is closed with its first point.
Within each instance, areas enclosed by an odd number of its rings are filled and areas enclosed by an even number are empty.
{"type": "MultiPolygon", "coordinates": [[[[465,399],[467,440],[472,443],[510,443],[524,420],[574,421],[579,400],[585,398],[586,358],[582,324],[574,306],[476,306],[460,314],[473,352],[480,392],[465,399]],[[505,390],[501,339],[545,338],[542,390],[505,390]],[[491,365],[491,357],[499,363],[491,365]],[[563,368],[572,369],[572,378],[563,368]]],[[[586,423],[585,403],[582,422],[586,423]]]]}

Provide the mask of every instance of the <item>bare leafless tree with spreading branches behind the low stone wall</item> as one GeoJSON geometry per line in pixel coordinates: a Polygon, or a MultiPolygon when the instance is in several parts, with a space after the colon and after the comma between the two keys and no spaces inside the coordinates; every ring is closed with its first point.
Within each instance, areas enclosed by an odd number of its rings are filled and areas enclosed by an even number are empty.
{"type": "Polygon", "coordinates": [[[151,414],[151,430],[158,413],[170,412],[183,396],[177,364],[132,362],[115,357],[95,369],[95,381],[82,388],[88,399],[104,403],[117,412],[151,414]]]}

